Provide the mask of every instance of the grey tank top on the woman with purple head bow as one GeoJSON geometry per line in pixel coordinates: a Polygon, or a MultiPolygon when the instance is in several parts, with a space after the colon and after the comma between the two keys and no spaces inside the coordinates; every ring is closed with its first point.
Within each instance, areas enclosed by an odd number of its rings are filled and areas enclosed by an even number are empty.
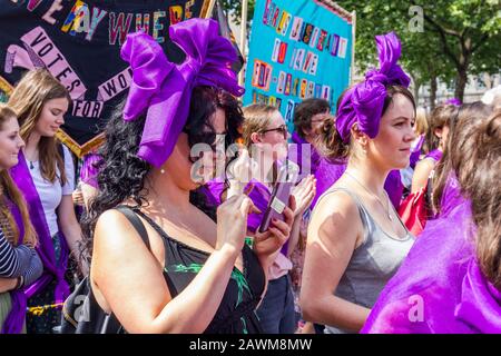
{"type": "MultiPolygon", "coordinates": [[[[371,309],[384,286],[407,256],[414,244],[414,236],[403,224],[402,226],[407,231],[404,238],[394,238],[387,235],[369,214],[357,195],[346,188],[330,189],[321,198],[335,191],[344,191],[355,201],[364,228],[364,240],[353,251],[334,295],[371,309]]],[[[393,207],[392,204],[390,205],[393,207]]],[[[324,333],[345,334],[348,332],[325,326],[324,333]]]]}

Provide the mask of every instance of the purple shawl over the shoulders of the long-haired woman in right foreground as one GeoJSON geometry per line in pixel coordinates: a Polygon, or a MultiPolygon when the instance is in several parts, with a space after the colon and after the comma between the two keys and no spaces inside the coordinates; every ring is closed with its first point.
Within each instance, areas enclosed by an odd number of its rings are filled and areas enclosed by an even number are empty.
{"type": "Polygon", "coordinates": [[[426,224],[361,333],[501,333],[501,293],[478,266],[469,201],[426,224]]]}

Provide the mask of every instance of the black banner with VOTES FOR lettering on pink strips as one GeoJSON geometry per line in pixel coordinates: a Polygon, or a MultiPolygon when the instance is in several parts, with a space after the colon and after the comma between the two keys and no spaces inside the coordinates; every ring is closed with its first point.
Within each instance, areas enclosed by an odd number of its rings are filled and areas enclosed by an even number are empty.
{"type": "Polygon", "coordinates": [[[205,17],[209,0],[0,0],[0,101],[27,69],[47,68],[73,99],[58,137],[79,157],[101,141],[101,130],[130,85],[120,58],[127,33],[143,29],[174,62],[183,51],[168,27],[205,17]]]}

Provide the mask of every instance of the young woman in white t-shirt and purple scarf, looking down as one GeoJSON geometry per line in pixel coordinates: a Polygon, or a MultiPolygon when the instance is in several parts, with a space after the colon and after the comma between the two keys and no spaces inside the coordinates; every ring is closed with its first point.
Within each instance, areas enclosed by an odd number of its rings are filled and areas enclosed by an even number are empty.
{"type": "MultiPolygon", "coordinates": [[[[30,208],[39,238],[37,250],[45,268],[42,277],[27,295],[30,307],[47,310],[41,315],[28,315],[28,333],[48,334],[59,324],[58,308],[69,294],[65,279],[68,255],[79,256],[81,229],[71,198],[73,161],[69,150],[55,137],[65,123],[63,116],[70,102],[67,89],[45,69],[27,72],[9,98],[26,141],[11,174],[30,208]]],[[[86,268],[82,269],[86,273],[86,268]]]]}

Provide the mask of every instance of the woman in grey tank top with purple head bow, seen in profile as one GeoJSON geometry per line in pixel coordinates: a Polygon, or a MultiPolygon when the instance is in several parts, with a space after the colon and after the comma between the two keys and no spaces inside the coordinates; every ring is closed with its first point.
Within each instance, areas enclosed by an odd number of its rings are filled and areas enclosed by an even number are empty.
{"type": "Polygon", "coordinates": [[[384,181],[409,165],[415,103],[397,65],[399,38],[391,32],[375,39],[380,69],[344,93],[318,146],[330,160],[347,160],[313,211],[301,290],[305,319],[324,324],[327,334],[362,328],[414,243],[384,181]]]}

